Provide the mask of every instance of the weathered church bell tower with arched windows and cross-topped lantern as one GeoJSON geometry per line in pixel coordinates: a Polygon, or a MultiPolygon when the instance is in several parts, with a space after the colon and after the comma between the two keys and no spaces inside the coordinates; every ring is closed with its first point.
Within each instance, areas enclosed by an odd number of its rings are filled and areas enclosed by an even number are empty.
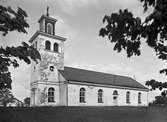
{"type": "Polygon", "coordinates": [[[36,48],[41,60],[31,63],[31,106],[59,104],[58,70],[64,69],[64,42],[66,38],[55,34],[57,19],[46,15],[38,20],[39,30],[29,42],[36,48]]]}

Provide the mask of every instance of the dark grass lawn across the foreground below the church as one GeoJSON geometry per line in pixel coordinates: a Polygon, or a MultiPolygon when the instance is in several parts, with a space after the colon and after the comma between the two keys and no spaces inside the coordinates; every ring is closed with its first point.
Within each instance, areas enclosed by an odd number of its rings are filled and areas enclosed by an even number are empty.
{"type": "Polygon", "coordinates": [[[0,122],[167,122],[167,107],[10,107],[0,122]]]}

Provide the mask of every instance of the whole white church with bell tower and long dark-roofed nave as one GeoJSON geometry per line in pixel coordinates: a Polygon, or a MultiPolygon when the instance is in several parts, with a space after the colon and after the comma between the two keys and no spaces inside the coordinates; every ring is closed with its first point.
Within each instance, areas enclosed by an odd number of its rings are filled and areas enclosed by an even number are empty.
{"type": "Polygon", "coordinates": [[[130,77],[64,66],[57,20],[47,12],[38,22],[29,40],[41,54],[31,64],[31,106],[148,106],[148,88],[130,77]]]}

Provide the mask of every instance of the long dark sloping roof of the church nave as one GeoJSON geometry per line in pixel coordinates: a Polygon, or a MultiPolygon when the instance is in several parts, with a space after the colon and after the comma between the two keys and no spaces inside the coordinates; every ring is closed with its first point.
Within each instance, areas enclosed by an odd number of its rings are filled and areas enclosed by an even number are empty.
{"type": "Polygon", "coordinates": [[[140,88],[148,90],[148,88],[146,88],[136,80],[126,76],[113,75],[72,67],[64,67],[64,70],[59,70],[59,72],[68,81],[140,88]]]}

